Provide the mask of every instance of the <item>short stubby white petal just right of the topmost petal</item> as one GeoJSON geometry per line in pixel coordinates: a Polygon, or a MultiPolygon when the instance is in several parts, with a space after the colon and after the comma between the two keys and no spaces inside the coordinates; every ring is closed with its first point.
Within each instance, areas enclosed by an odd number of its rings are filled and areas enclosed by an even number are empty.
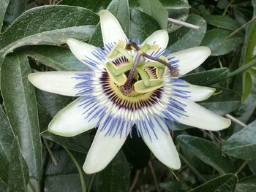
{"type": "Polygon", "coordinates": [[[154,31],[153,34],[151,34],[143,43],[148,43],[148,44],[156,44],[159,45],[162,49],[165,49],[167,47],[169,41],[169,36],[166,30],[158,30],[154,31]]]}

